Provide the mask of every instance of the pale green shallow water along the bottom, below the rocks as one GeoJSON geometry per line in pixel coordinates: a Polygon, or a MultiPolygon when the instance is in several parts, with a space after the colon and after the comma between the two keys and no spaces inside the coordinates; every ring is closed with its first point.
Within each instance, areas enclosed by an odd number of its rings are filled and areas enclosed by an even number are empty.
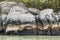
{"type": "Polygon", "coordinates": [[[0,40],[60,40],[60,36],[18,36],[0,35],[0,40]]]}

